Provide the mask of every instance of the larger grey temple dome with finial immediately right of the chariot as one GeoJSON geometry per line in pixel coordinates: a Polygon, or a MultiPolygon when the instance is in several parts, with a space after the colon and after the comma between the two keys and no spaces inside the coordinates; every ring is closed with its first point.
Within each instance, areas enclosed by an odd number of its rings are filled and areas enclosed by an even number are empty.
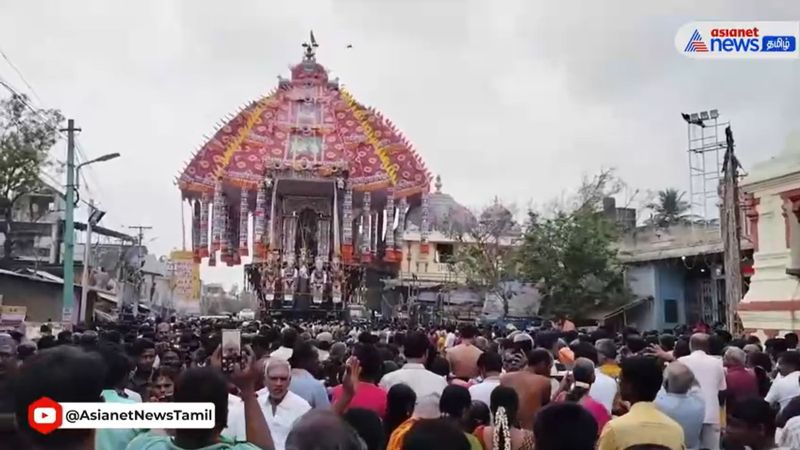
{"type": "MultiPolygon", "coordinates": [[[[442,192],[442,179],[436,177],[436,192],[428,195],[428,224],[431,231],[443,234],[465,233],[478,221],[466,206],[450,194],[442,192]]],[[[422,206],[413,207],[406,215],[406,229],[419,230],[422,225],[422,206]]]]}

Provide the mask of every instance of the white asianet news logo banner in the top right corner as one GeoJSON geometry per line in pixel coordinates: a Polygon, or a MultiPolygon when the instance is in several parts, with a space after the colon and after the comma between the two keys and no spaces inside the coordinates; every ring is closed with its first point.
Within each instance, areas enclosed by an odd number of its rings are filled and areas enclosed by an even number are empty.
{"type": "Polygon", "coordinates": [[[698,59],[797,59],[798,38],[800,22],[692,22],[675,46],[698,59]]]}

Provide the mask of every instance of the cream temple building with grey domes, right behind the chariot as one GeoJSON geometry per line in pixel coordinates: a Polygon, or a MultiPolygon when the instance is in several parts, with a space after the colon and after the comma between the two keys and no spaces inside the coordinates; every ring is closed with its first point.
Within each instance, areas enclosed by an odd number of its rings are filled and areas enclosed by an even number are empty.
{"type": "MultiPolygon", "coordinates": [[[[404,316],[413,311],[420,320],[435,317],[474,320],[485,315],[496,318],[502,313],[502,300],[465,286],[466,276],[454,266],[454,256],[465,245],[517,245],[522,232],[511,211],[495,200],[475,217],[469,208],[442,192],[442,180],[437,176],[435,191],[428,195],[428,215],[424,220],[428,230],[424,239],[421,206],[411,208],[401,224],[400,270],[396,277],[383,280],[383,314],[404,316]],[[496,232],[482,232],[484,229],[496,232]]],[[[529,298],[531,289],[520,283],[508,286],[505,291],[513,291],[510,315],[538,312],[539,296],[535,289],[535,298],[529,298]]]]}

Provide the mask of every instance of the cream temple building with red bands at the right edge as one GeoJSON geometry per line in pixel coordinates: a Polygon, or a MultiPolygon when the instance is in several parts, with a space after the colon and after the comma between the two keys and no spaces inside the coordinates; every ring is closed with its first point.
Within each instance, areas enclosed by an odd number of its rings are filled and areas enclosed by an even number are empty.
{"type": "Polygon", "coordinates": [[[800,133],[778,156],[742,180],[746,227],[754,237],[754,275],[739,305],[747,332],[762,336],[800,329],[800,133]]]}

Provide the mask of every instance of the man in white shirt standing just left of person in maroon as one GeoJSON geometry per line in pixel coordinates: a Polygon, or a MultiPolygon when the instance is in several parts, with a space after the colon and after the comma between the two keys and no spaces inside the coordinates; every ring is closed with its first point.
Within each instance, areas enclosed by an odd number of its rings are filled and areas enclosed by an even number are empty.
{"type": "Polygon", "coordinates": [[[679,358],[678,361],[694,374],[705,402],[706,413],[703,418],[703,431],[700,435],[700,448],[719,450],[720,399],[724,398],[727,384],[725,383],[722,359],[708,354],[709,338],[709,335],[705,333],[693,334],[689,340],[689,349],[692,353],[679,358]]]}

